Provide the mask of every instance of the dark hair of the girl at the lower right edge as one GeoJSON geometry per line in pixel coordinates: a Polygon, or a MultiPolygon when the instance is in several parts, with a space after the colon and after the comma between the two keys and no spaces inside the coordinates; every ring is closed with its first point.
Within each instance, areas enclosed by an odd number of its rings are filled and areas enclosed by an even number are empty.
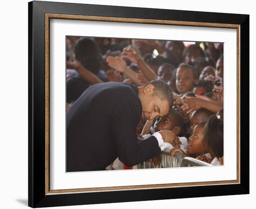
{"type": "Polygon", "coordinates": [[[217,158],[223,156],[223,122],[212,115],[203,130],[202,141],[217,158]]]}

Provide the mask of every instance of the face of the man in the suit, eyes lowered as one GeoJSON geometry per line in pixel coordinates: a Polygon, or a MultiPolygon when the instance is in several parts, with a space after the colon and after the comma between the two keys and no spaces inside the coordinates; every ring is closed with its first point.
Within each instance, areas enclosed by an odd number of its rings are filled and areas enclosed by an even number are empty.
{"type": "Polygon", "coordinates": [[[139,98],[142,104],[141,118],[153,120],[156,117],[162,117],[169,111],[167,99],[161,99],[154,95],[154,85],[149,84],[139,90],[139,98]]]}

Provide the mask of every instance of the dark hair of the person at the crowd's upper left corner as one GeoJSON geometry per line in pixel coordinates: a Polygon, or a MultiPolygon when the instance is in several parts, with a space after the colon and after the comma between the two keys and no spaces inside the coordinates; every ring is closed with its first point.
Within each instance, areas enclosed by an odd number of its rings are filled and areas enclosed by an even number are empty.
{"type": "Polygon", "coordinates": [[[85,68],[93,73],[99,72],[102,67],[101,52],[93,39],[80,38],[74,44],[75,58],[85,68]]]}

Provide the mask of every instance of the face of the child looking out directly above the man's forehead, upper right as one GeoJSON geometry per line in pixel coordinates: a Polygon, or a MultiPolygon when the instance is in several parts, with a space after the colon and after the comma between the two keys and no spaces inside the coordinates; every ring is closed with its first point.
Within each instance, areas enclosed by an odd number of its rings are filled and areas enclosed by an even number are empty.
{"type": "Polygon", "coordinates": [[[181,94],[193,91],[194,82],[194,75],[189,68],[178,68],[176,72],[176,88],[181,94]]]}

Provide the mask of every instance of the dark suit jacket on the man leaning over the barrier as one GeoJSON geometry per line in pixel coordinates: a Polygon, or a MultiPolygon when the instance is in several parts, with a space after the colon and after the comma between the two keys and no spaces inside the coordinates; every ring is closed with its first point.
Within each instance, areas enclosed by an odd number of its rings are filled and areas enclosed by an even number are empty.
{"type": "Polygon", "coordinates": [[[67,172],[104,170],[119,157],[133,166],[160,154],[152,136],[138,143],[138,87],[120,82],[92,85],[67,112],[67,172]]]}

